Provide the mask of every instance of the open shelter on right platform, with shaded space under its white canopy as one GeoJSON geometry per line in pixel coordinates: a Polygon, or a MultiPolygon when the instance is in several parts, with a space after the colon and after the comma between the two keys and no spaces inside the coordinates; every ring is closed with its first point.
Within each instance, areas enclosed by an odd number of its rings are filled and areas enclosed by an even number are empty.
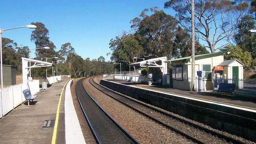
{"type": "Polygon", "coordinates": [[[160,85],[167,84],[167,57],[157,57],[132,63],[130,66],[140,66],[141,68],[148,69],[148,84],[158,82],[160,85]],[[151,77],[152,76],[152,77],[151,77]]]}

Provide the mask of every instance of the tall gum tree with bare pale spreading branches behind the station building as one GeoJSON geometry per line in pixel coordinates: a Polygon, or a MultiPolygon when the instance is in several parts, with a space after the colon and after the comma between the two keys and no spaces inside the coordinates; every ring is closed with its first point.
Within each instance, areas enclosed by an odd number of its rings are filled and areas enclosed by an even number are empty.
{"type": "MultiPolygon", "coordinates": [[[[191,32],[191,0],[170,0],[164,7],[176,11],[175,17],[180,26],[191,32]]],[[[248,8],[247,0],[195,0],[195,34],[198,40],[204,41],[212,53],[228,45],[230,37],[243,29],[236,27],[248,8]]]]}

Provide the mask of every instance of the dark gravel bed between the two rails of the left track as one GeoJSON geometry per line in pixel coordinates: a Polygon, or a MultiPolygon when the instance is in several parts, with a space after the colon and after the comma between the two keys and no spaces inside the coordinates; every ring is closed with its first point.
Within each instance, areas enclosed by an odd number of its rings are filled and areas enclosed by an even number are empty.
{"type": "Polygon", "coordinates": [[[102,144],[132,144],[129,137],[125,135],[116,126],[116,124],[106,116],[106,114],[96,105],[90,96],[85,92],[82,86],[82,81],[76,83],[76,93],[80,99],[87,118],[90,121],[98,140],[102,144]]]}

